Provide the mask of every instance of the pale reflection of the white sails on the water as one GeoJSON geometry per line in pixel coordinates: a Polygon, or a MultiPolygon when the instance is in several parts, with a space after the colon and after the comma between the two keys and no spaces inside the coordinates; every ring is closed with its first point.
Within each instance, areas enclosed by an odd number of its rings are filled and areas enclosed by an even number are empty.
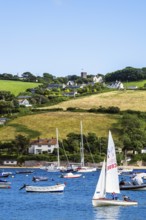
{"type": "Polygon", "coordinates": [[[119,219],[120,207],[119,206],[105,206],[94,208],[94,220],[97,219],[119,219]]]}

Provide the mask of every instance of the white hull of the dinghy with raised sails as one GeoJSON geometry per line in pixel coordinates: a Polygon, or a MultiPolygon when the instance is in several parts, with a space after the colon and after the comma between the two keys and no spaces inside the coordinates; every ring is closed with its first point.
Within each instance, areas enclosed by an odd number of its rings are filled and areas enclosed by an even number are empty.
{"type": "Polygon", "coordinates": [[[133,206],[138,205],[136,201],[124,201],[113,199],[92,199],[92,205],[97,206],[133,206]]]}

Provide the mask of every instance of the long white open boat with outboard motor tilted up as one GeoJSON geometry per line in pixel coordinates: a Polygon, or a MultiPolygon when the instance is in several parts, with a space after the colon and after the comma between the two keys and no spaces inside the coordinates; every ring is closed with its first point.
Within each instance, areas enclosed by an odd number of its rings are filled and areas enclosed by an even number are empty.
{"type": "Polygon", "coordinates": [[[52,186],[29,186],[24,184],[20,188],[20,190],[25,188],[26,192],[59,193],[64,191],[65,186],[66,186],[65,184],[59,184],[59,183],[52,186]]]}

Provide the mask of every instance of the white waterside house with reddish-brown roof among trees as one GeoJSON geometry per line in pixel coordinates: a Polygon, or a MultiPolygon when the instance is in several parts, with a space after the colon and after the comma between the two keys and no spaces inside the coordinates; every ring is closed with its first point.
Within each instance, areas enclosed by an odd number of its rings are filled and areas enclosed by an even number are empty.
{"type": "Polygon", "coordinates": [[[55,148],[58,148],[56,138],[52,138],[52,139],[38,138],[37,140],[31,141],[28,152],[30,154],[52,153],[55,148]]]}

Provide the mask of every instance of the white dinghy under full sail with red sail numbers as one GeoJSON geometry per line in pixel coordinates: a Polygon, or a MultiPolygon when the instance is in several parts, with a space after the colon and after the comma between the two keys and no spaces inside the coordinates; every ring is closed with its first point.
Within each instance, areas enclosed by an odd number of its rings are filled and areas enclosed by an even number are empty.
{"type": "Polygon", "coordinates": [[[137,201],[130,199],[120,200],[118,198],[108,198],[108,193],[120,193],[115,145],[110,131],[108,136],[107,161],[106,163],[105,160],[103,161],[99,180],[92,198],[92,204],[93,206],[131,206],[138,204],[137,201]]]}

